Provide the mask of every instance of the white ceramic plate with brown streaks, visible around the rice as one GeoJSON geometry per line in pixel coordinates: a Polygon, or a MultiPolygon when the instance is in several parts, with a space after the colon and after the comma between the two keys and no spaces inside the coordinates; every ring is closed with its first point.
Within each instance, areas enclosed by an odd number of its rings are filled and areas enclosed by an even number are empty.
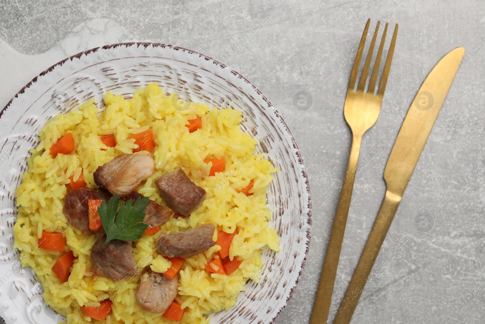
{"type": "MultiPolygon", "coordinates": [[[[8,77],[8,76],[3,76],[8,77]]],[[[273,323],[286,306],[305,266],[310,242],[311,201],[298,147],[272,104],[242,75],[187,49],[152,43],[96,48],[54,65],[23,87],[0,112],[0,314],[6,324],[53,324],[64,317],[47,307],[31,268],[21,269],[13,249],[15,189],[27,169],[38,131],[59,112],[77,109],[94,97],[100,109],[106,91],[131,96],[135,88],[158,82],[165,93],[243,112],[243,131],[281,169],[268,189],[271,225],[281,251],[265,249],[261,283],[248,282],[229,311],[211,314],[216,323],[273,323]]]]}

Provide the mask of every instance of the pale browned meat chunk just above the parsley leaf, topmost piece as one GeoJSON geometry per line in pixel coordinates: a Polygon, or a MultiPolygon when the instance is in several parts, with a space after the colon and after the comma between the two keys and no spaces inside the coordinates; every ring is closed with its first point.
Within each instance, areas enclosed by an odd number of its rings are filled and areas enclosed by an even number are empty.
{"type": "Polygon", "coordinates": [[[155,171],[155,161],[150,155],[120,154],[98,167],[93,176],[98,186],[123,198],[155,171]]]}

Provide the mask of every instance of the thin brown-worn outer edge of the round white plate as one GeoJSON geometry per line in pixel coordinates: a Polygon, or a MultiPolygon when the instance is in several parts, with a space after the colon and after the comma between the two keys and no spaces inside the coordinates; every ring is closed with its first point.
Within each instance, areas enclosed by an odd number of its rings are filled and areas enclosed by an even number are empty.
{"type": "MultiPolygon", "coordinates": [[[[305,178],[305,185],[306,185],[306,191],[307,191],[307,194],[308,194],[308,205],[307,205],[307,208],[308,208],[308,213],[307,213],[307,224],[309,225],[309,227],[307,228],[307,230],[305,231],[306,233],[306,237],[307,237],[307,243],[306,243],[306,250],[305,250],[305,256],[303,258],[303,260],[301,261],[301,268],[300,268],[300,271],[298,273],[298,277],[296,278],[296,281],[295,281],[295,284],[294,286],[291,288],[290,290],[290,294],[289,296],[287,297],[287,300],[285,302],[285,304],[278,310],[278,312],[276,313],[276,315],[273,317],[273,319],[271,320],[270,324],[274,324],[275,321],[278,319],[279,315],[283,312],[283,310],[286,308],[286,306],[288,305],[288,303],[290,302],[290,299],[291,297],[293,296],[293,293],[296,289],[296,287],[298,286],[298,283],[300,281],[300,278],[302,276],[302,273],[303,273],[303,269],[305,268],[305,264],[306,264],[306,261],[307,261],[307,257],[308,257],[308,251],[309,251],[309,247],[310,247],[310,240],[311,240],[311,228],[312,228],[312,225],[313,225],[313,219],[312,219],[312,204],[311,204],[311,193],[310,193],[310,183],[309,183],[309,180],[308,180],[308,174],[307,174],[307,168],[305,167],[305,163],[303,161],[303,157],[300,153],[300,149],[298,148],[298,145],[296,144],[296,141],[293,137],[293,135],[291,134],[291,131],[290,129],[288,128],[288,125],[286,124],[285,120],[281,117],[281,115],[278,113],[278,111],[276,110],[275,106],[266,98],[266,96],[258,89],[258,87],[256,87],[255,85],[253,85],[248,79],[246,79],[241,73],[235,71],[234,69],[232,68],[229,68],[228,66],[226,66],[224,63],[210,57],[210,56],[207,56],[205,54],[202,54],[198,51],[194,51],[194,50],[190,50],[190,49],[187,49],[187,48],[184,48],[184,47],[180,47],[180,46],[173,46],[173,45],[170,45],[170,44],[163,44],[163,43],[153,43],[153,42],[127,42],[127,43],[115,43],[115,44],[109,44],[109,45],[104,45],[104,46],[98,46],[98,47],[95,47],[95,48],[92,48],[92,49],[89,49],[89,50],[86,50],[86,51],[81,51],[77,54],[74,54],[74,55],[71,55],[67,58],[65,58],[64,60],[62,61],[59,61],[55,64],[53,64],[52,66],[50,66],[49,68],[45,69],[44,71],[42,71],[41,73],[39,73],[37,76],[35,76],[29,83],[27,83],[26,85],[24,85],[16,94],[15,96],[12,97],[12,99],[10,99],[9,102],[7,102],[7,104],[0,110],[0,119],[1,117],[3,116],[4,112],[10,107],[10,105],[12,104],[13,100],[15,98],[18,98],[18,96],[20,94],[23,94],[25,92],[25,90],[27,88],[30,88],[34,83],[37,82],[37,79],[41,76],[44,76],[46,74],[48,74],[49,72],[52,72],[54,68],[56,68],[57,66],[62,66],[64,65],[65,62],[67,62],[68,60],[74,60],[75,58],[77,59],[81,59],[82,55],[88,55],[92,52],[96,52],[100,49],[102,50],[108,50],[108,49],[112,49],[112,48],[117,48],[117,47],[122,47],[122,46],[125,46],[126,48],[129,48],[133,45],[136,45],[136,47],[140,47],[140,46],[144,46],[145,49],[148,47],[148,46],[152,46],[152,47],[162,47],[162,48],[170,48],[172,50],[175,50],[175,51],[187,51],[189,54],[196,54],[196,55],[199,55],[200,57],[204,58],[206,61],[212,61],[213,63],[219,65],[221,68],[226,68],[229,70],[229,72],[231,72],[232,74],[234,74],[234,76],[242,79],[242,81],[244,81],[246,84],[250,85],[260,96],[261,98],[268,104],[268,107],[269,108],[272,108],[273,109],[273,112],[275,113],[276,117],[280,119],[281,121],[281,124],[284,126],[283,127],[283,130],[286,131],[288,133],[288,135],[290,136],[291,138],[291,143],[293,144],[293,148],[296,150],[296,156],[297,156],[297,159],[298,159],[298,163],[301,165],[301,168],[302,168],[302,176],[305,178]]],[[[2,319],[3,320],[3,319],[2,319]]],[[[5,323],[5,322],[4,322],[5,323]]]]}

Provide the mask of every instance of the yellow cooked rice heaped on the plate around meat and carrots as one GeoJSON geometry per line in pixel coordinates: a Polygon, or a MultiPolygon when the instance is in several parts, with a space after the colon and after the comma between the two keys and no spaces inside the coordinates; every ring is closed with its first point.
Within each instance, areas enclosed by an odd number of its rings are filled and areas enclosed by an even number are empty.
{"type": "MultiPolygon", "coordinates": [[[[162,314],[143,311],[137,304],[135,290],[139,275],[113,282],[95,276],[91,269],[90,249],[96,236],[86,236],[71,227],[62,212],[66,193],[67,175],[74,181],[82,175],[88,188],[96,188],[93,172],[121,153],[132,153],[136,147],[131,134],[151,129],[154,134],[154,158],[157,172],[142,183],[138,192],[165,205],[154,180],[179,166],[207,191],[203,205],[190,218],[171,218],[155,235],[142,235],[133,245],[133,256],[139,270],[149,266],[153,271],[164,272],[171,263],[157,254],[156,240],[162,231],[178,232],[200,223],[214,223],[217,231],[237,235],[230,247],[230,259],[242,259],[239,269],[231,275],[209,273],[205,265],[220,249],[218,245],[188,258],[180,271],[180,287],[176,301],[185,309],[180,323],[208,324],[205,314],[233,307],[237,293],[244,290],[248,279],[259,282],[261,272],[260,251],[266,245],[279,250],[278,236],[268,225],[271,212],[266,205],[266,188],[273,180],[271,162],[262,154],[255,154],[257,141],[242,133],[239,123],[242,113],[233,109],[210,109],[198,102],[182,102],[175,93],[164,96],[157,83],[138,89],[131,99],[107,92],[106,108],[98,114],[94,99],[65,115],[50,119],[41,132],[40,143],[31,149],[27,159],[28,171],[16,190],[17,220],[14,226],[15,248],[20,250],[23,267],[32,267],[36,279],[44,288],[44,300],[67,318],[68,324],[90,323],[175,323],[162,314]],[[187,105],[180,111],[172,102],[187,105]],[[99,116],[98,116],[99,115],[99,116]],[[203,128],[189,133],[187,120],[202,116],[203,128]],[[69,154],[49,154],[50,146],[66,133],[72,133],[76,150],[69,154]],[[99,136],[114,134],[116,147],[106,147],[99,136]],[[105,149],[105,150],[101,150],[105,149]],[[226,158],[224,173],[206,176],[210,165],[205,158],[226,158]],[[254,179],[253,195],[245,196],[239,190],[254,179]],[[63,232],[67,246],[64,252],[37,248],[42,231],[63,232]],[[61,284],[51,268],[59,256],[67,251],[76,256],[68,282],[61,284]],[[96,321],[81,313],[81,306],[99,306],[110,298],[113,312],[105,321],[96,321]]],[[[141,152],[146,153],[146,152],[141,152]]]]}

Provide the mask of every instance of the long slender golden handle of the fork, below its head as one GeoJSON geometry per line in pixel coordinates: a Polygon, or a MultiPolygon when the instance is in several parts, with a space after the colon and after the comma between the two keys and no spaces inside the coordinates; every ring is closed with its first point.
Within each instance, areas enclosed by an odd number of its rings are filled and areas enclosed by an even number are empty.
{"type": "Polygon", "coordinates": [[[325,260],[323,262],[322,274],[313,303],[310,324],[325,324],[328,320],[328,312],[332,301],[332,292],[339,265],[340,249],[342,248],[343,234],[345,224],[349,214],[350,200],[352,190],[354,189],[354,180],[357,171],[357,162],[359,159],[360,143],[362,136],[353,136],[352,147],[350,149],[349,163],[345,172],[344,182],[340,191],[339,205],[335,213],[335,219],[332,226],[332,233],[327,245],[325,260]]]}

